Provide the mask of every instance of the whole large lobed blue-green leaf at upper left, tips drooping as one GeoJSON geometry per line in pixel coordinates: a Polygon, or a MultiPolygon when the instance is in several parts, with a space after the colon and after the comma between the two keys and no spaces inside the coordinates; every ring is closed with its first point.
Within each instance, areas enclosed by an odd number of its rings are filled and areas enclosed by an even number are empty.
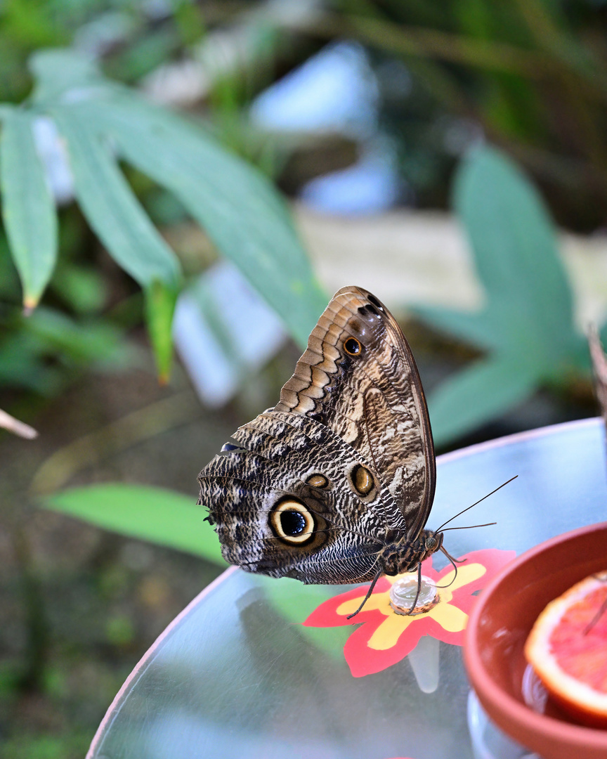
{"type": "Polygon", "coordinates": [[[2,213],[26,309],[38,304],[58,254],[55,204],[36,145],[43,117],[61,135],[91,227],[143,288],[161,379],[170,370],[181,266],[120,172],[116,152],[178,198],[305,344],[325,295],[272,185],[202,131],[106,80],[82,56],[38,53],[32,68],[36,88],[27,108],[0,107],[2,213]]]}

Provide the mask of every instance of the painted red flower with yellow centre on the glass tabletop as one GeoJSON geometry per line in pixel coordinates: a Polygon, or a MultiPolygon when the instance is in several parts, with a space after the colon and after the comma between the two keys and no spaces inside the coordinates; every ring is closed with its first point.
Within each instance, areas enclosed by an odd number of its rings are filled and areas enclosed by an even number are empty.
{"type": "MultiPolygon", "coordinates": [[[[449,565],[436,572],[432,556],[422,564],[422,574],[439,587],[439,600],[429,611],[415,616],[395,613],[390,606],[392,584],[404,575],[382,577],[362,611],[349,620],[366,594],[368,586],[355,587],[321,603],[304,622],[307,627],[357,625],[344,646],[344,655],[354,677],[370,675],[392,666],[416,647],[423,635],[431,635],[455,646],[464,644],[464,631],[473,606],[473,594],[507,562],[514,551],[487,549],[472,551],[458,564],[457,576],[449,565]],[[362,622],[362,624],[360,624],[362,622]]],[[[415,575],[417,577],[417,574],[415,575]]]]}

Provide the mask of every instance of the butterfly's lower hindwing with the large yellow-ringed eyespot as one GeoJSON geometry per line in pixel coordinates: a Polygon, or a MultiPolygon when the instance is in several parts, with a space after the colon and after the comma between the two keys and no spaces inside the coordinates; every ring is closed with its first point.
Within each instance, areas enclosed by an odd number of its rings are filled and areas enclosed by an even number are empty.
{"type": "Polygon", "coordinates": [[[226,561],[247,572],[306,583],[363,582],[376,574],[385,524],[379,489],[363,501],[348,484],[347,462],[360,456],[332,430],[300,414],[270,409],[244,424],[200,472],[200,502],[209,506],[226,561]],[[322,473],[328,490],[310,486],[322,473]],[[287,546],[269,516],[281,499],[303,502],[315,521],[310,541],[287,546]]]}

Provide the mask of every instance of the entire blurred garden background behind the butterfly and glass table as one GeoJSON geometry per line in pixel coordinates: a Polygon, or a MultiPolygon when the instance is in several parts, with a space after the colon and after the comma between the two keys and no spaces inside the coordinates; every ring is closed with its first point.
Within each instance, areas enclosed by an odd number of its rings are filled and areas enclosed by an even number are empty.
{"type": "Polygon", "coordinates": [[[401,320],[438,452],[596,414],[606,32],[603,0],[2,3],[0,408],[39,433],[0,433],[3,757],[82,757],[222,571],[197,474],[343,285],[401,320]]]}

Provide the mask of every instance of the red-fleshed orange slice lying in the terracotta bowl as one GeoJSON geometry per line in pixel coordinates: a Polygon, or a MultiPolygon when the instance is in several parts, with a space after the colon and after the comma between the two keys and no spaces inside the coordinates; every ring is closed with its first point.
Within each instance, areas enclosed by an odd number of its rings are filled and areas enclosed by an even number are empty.
{"type": "Polygon", "coordinates": [[[551,601],[525,656],[555,701],[577,720],[607,727],[607,571],[551,601]]]}

